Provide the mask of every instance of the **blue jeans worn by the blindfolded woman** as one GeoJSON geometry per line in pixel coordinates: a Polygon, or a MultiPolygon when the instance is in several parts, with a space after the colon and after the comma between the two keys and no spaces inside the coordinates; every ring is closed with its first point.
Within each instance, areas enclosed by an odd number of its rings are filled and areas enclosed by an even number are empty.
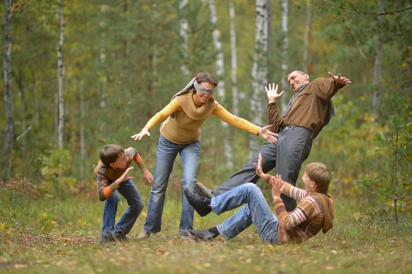
{"type": "Polygon", "coordinates": [[[180,153],[183,166],[181,181],[182,212],[179,232],[186,235],[188,229],[193,229],[194,209],[187,203],[183,194],[183,188],[187,187],[194,191],[199,156],[201,154],[201,141],[193,141],[190,144],[174,144],[172,141],[160,135],[157,146],[155,165],[155,185],[150,192],[148,216],[144,224],[144,231],[158,233],[161,231],[161,216],[165,202],[166,189],[169,176],[173,169],[174,159],[180,153]]]}

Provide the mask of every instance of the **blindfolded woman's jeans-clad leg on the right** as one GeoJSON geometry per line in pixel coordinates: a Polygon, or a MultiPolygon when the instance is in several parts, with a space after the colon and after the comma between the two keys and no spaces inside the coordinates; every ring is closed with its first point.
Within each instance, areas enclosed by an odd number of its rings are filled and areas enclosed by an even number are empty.
{"type": "Polygon", "coordinates": [[[193,229],[194,208],[187,203],[187,198],[183,194],[185,187],[191,192],[194,191],[194,184],[196,183],[196,174],[198,169],[198,161],[201,155],[201,141],[194,141],[188,144],[180,152],[183,174],[181,181],[181,197],[182,197],[182,212],[179,226],[179,232],[187,235],[188,229],[193,229]]]}

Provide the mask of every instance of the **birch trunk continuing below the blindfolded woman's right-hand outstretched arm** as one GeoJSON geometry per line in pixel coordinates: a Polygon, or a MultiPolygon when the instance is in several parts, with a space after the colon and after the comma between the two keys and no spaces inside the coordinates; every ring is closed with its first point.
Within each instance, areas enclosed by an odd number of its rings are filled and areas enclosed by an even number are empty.
{"type": "MultiPolygon", "coordinates": [[[[225,104],[226,91],[225,91],[225,64],[223,61],[223,51],[222,43],[219,38],[218,30],[218,16],[216,14],[216,5],[214,0],[209,0],[209,9],[210,9],[210,20],[213,25],[213,41],[216,49],[216,77],[219,81],[218,84],[218,98],[221,104],[225,104]]],[[[220,125],[223,128],[223,144],[225,150],[225,163],[227,168],[233,168],[233,159],[232,159],[232,150],[231,144],[229,141],[229,130],[227,129],[227,124],[223,121],[220,121],[220,125]]]]}

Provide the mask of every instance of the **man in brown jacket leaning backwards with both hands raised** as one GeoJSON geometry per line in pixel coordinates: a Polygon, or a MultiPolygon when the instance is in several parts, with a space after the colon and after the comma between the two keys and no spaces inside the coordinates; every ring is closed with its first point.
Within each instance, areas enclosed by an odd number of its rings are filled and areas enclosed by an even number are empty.
{"type": "MultiPolygon", "coordinates": [[[[351,80],[340,73],[338,76],[330,72],[328,74],[330,78],[317,78],[310,82],[310,77],[305,71],[289,73],[288,84],[294,94],[282,116],[278,113],[276,100],[284,91],[277,93],[275,84],[265,87],[268,96],[268,120],[269,124],[273,124],[273,132],[279,134],[277,143],[264,143],[238,172],[215,190],[209,190],[201,183],[196,183],[196,192],[200,196],[212,198],[238,185],[256,183],[259,176],[255,172],[254,163],[258,163],[259,154],[264,159],[264,173],[276,168],[276,173],[281,175],[284,181],[295,186],[301,164],[308,158],[312,148],[312,140],[334,116],[332,97],[339,89],[345,87],[345,84],[352,84],[351,80]]],[[[281,197],[286,210],[293,211],[296,201],[283,194],[281,197]]]]}

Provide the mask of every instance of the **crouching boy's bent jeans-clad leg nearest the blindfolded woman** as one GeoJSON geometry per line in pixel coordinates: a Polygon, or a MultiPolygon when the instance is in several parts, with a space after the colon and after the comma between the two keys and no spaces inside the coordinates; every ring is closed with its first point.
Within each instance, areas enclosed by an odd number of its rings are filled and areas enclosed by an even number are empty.
{"type": "Polygon", "coordinates": [[[139,217],[140,212],[144,208],[143,200],[133,181],[124,181],[119,185],[119,193],[126,199],[128,208],[124,212],[122,218],[117,222],[113,234],[115,236],[126,236],[139,217]]]}

